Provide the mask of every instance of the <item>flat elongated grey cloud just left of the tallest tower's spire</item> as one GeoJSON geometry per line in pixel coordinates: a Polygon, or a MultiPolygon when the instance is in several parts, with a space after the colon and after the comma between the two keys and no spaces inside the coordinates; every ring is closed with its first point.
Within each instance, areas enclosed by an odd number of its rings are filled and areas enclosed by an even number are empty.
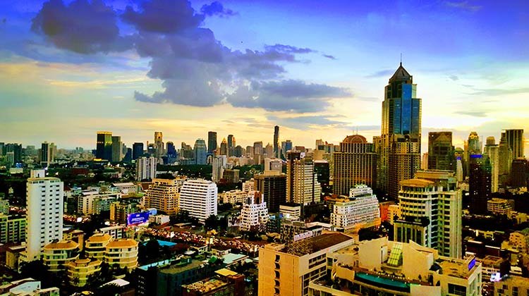
{"type": "Polygon", "coordinates": [[[227,97],[233,106],[267,111],[317,112],[329,106],[329,99],[350,97],[349,90],[300,80],[253,81],[241,85],[227,97]]]}

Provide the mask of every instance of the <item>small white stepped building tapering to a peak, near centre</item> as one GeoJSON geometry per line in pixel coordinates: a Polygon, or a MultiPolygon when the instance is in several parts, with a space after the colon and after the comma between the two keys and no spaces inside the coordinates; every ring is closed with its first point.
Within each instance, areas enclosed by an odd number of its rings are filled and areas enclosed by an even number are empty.
{"type": "Polygon", "coordinates": [[[248,197],[241,209],[239,230],[262,232],[267,228],[267,203],[259,191],[248,192],[248,197]]]}

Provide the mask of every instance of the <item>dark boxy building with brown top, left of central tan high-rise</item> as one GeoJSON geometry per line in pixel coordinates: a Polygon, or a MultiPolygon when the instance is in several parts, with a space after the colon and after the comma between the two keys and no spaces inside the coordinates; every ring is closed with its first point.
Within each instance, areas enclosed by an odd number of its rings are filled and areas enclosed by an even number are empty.
{"type": "Polygon", "coordinates": [[[279,212],[279,205],[286,202],[286,175],[277,171],[267,171],[254,175],[255,190],[262,193],[268,211],[279,212]]]}

